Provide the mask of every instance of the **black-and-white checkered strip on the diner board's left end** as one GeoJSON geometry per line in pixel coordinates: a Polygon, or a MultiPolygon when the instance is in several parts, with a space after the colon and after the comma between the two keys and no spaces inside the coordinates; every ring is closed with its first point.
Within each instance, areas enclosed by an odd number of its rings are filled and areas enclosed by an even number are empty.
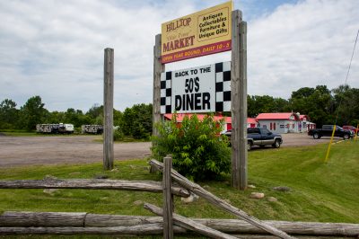
{"type": "Polygon", "coordinates": [[[171,79],[172,72],[166,72],[161,74],[161,113],[171,113],[171,79]]]}

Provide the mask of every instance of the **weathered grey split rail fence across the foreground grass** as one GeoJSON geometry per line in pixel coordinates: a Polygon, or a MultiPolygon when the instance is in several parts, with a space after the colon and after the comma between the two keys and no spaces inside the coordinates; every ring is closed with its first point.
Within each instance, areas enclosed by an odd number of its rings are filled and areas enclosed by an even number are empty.
{"type": "Polygon", "coordinates": [[[260,221],[171,169],[171,155],[164,157],[163,162],[150,161],[154,168],[162,171],[162,183],[121,180],[0,181],[0,189],[137,190],[162,192],[163,195],[162,208],[144,203],[144,208],[159,217],[6,211],[0,215],[0,235],[163,235],[163,238],[173,238],[174,234],[196,232],[212,238],[359,237],[359,224],[260,221]],[[179,186],[171,185],[172,181],[179,186]],[[173,196],[189,197],[191,193],[241,220],[188,218],[174,213],[173,196]]]}

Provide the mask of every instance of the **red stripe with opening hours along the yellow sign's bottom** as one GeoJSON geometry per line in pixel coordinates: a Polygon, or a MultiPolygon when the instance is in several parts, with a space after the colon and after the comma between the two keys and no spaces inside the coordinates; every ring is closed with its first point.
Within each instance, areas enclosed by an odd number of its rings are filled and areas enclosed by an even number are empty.
{"type": "Polygon", "coordinates": [[[180,61],[189,58],[198,58],[210,54],[231,50],[232,49],[231,44],[232,44],[232,40],[224,40],[206,46],[198,47],[195,49],[181,50],[179,52],[163,55],[161,57],[161,63],[165,64],[165,63],[180,61]]]}

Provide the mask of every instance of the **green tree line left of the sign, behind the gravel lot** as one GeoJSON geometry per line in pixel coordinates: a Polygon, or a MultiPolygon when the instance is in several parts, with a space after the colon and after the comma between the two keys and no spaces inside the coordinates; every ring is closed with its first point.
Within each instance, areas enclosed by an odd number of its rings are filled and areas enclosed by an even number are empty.
{"type": "MultiPolygon", "coordinates": [[[[117,137],[130,136],[148,138],[152,133],[152,104],[135,104],[121,112],[113,109],[114,126],[118,126],[117,137]]],[[[34,131],[36,124],[71,123],[77,131],[82,125],[102,125],[103,106],[94,104],[88,111],[48,111],[39,95],[31,97],[17,108],[16,102],[4,99],[0,103],[0,130],[34,131]]]]}

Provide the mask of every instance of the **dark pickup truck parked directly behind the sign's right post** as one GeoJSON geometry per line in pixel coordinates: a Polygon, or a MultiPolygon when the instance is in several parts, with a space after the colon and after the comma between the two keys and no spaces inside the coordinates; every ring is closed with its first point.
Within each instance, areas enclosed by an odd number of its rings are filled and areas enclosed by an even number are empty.
{"type": "MultiPolygon", "coordinates": [[[[224,133],[231,139],[232,130],[224,133]]],[[[278,148],[282,145],[283,139],[281,135],[270,132],[267,128],[247,128],[247,149],[250,150],[252,146],[273,146],[278,148]]]]}

